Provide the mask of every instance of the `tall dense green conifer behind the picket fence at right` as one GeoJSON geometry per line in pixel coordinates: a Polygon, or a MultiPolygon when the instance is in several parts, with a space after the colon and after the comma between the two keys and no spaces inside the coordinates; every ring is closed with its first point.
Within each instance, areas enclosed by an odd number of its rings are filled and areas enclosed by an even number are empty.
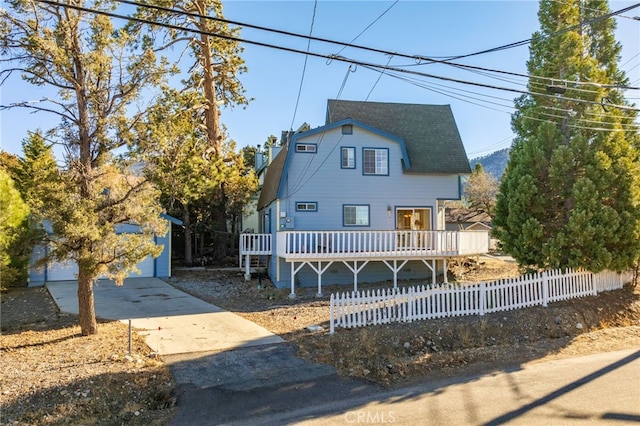
{"type": "Polygon", "coordinates": [[[606,1],[540,2],[494,233],[523,266],[622,270],[640,255],[637,110],[606,1]]]}

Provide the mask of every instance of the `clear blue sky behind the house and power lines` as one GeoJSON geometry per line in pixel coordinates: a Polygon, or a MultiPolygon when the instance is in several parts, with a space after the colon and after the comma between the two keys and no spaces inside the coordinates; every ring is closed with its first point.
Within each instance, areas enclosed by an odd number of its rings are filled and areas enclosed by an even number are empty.
{"type": "MultiPolygon", "coordinates": [[[[562,0],[559,0],[562,1],[562,0]]],[[[611,10],[635,4],[610,1],[611,10]]],[[[538,29],[537,1],[242,1],[224,2],[229,20],[309,34],[313,19],[315,37],[428,57],[450,57],[529,39],[538,29]],[[388,9],[388,10],[387,10],[388,9]],[[386,11],[386,13],[385,13],[386,11]],[[382,15],[382,16],[381,16],[382,15]],[[375,22],[374,22],[375,21],[375,22]]],[[[640,16],[640,7],[625,14],[640,16]]],[[[640,21],[617,18],[616,37],[623,45],[620,64],[632,85],[640,86],[640,21]]],[[[288,48],[306,50],[307,40],[245,28],[241,37],[288,48]]],[[[449,104],[470,158],[505,148],[513,137],[510,114],[516,93],[451,83],[435,78],[398,79],[362,66],[307,57],[266,47],[244,44],[248,73],[241,76],[246,107],[222,108],[222,121],[239,147],[263,144],[269,135],[297,129],[304,122],[323,124],[327,99],[370,100],[423,104],[449,104]],[[300,90],[301,88],[301,90],[300,90]],[[297,104],[297,108],[296,108],[297,104]]],[[[353,48],[312,41],[309,50],[363,62],[399,66],[472,83],[485,83],[524,90],[526,80],[497,80],[442,64],[417,64],[397,56],[368,53],[353,48]]],[[[479,67],[526,74],[526,46],[459,60],[479,67]]],[[[501,78],[505,78],[502,76],[501,78]]],[[[39,99],[45,92],[13,79],[0,88],[3,105],[39,99]]],[[[640,91],[628,91],[640,104],[640,91]]],[[[48,129],[55,117],[29,114],[19,109],[3,111],[2,149],[20,154],[28,130],[48,129]]]]}

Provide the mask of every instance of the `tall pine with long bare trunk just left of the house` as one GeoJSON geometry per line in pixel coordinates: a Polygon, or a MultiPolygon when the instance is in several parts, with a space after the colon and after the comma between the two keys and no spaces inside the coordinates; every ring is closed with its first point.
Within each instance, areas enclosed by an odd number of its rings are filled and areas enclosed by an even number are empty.
{"type": "MultiPolygon", "coordinates": [[[[163,0],[148,3],[165,9],[145,7],[142,5],[144,2],[141,2],[137,16],[186,28],[178,31],[155,27],[149,34],[156,41],[158,50],[182,43],[191,51],[192,63],[189,64],[188,78],[184,84],[187,89],[197,91],[202,98],[197,111],[211,152],[212,167],[219,167],[224,164],[220,160],[224,159],[225,150],[220,106],[231,108],[249,102],[239,80],[239,75],[247,71],[241,57],[243,48],[238,41],[233,40],[238,37],[239,29],[224,22],[223,4],[220,0],[163,0]]],[[[132,27],[142,30],[139,24],[133,24],[132,27]]],[[[227,173],[219,169],[218,175],[225,176],[227,173]]],[[[216,235],[227,232],[226,213],[229,207],[225,187],[225,182],[219,181],[215,190],[211,191],[213,199],[207,203],[210,210],[207,228],[212,229],[216,235]]],[[[222,247],[225,239],[221,239],[219,243],[215,252],[225,252],[222,247]]]]}

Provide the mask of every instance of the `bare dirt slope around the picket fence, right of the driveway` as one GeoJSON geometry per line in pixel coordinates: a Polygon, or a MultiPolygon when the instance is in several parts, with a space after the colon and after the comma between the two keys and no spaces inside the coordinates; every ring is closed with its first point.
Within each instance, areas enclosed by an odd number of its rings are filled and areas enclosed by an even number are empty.
{"type": "MultiPolygon", "coordinates": [[[[464,282],[520,275],[513,262],[501,259],[470,260],[455,268],[464,282]]],[[[170,283],[281,335],[303,358],[383,385],[640,346],[640,291],[629,288],[546,308],[337,329],[330,335],[328,296],[349,291],[348,286],[323,286],[321,299],[316,288],[297,288],[290,300],[288,289],[276,289],[265,278],[245,281],[235,271],[177,272],[170,283]]]]}

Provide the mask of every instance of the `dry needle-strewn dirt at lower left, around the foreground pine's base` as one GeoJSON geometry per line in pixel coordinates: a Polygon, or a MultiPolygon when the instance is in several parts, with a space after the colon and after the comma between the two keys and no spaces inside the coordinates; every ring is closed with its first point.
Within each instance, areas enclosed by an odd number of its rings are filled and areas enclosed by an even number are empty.
{"type": "Polygon", "coordinates": [[[2,293],[1,424],[165,424],[174,382],[128,327],[100,322],[83,337],[43,287],[2,293]]]}

